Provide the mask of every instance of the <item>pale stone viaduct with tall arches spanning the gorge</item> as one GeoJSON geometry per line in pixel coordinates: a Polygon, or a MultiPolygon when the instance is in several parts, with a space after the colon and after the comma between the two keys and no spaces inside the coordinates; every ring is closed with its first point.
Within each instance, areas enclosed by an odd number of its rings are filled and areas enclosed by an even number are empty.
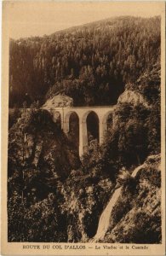
{"type": "Polygon", "coordinates": [[[88,148],[87,117],[89,113],[95,113],[99,121],[99,143],[103,143],[107,131],[107,119],[113,112],[113,106],[102,107],[64,107],[48,109],[55,121],[57,113],[60,113],[61,129],[67,134],[70,130],[70,117],[76,113],[79,119],[79,155],[81,156],[88,148]]]}

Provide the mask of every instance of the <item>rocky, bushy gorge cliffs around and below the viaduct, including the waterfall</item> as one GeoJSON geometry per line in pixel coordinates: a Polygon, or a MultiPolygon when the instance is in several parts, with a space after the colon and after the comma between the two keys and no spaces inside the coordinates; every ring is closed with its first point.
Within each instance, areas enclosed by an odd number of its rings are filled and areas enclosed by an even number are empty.
{"type": "Polygon", "coordinates": [[[18,115],[9,129],[9,241],[161,242],[158,77],[156,65],[126,85],[105,142],[92,140],[82,160],[48,111],[70,98],[18,115]]]}

